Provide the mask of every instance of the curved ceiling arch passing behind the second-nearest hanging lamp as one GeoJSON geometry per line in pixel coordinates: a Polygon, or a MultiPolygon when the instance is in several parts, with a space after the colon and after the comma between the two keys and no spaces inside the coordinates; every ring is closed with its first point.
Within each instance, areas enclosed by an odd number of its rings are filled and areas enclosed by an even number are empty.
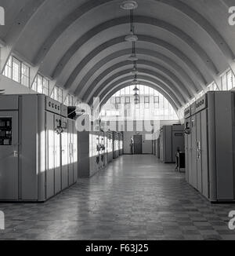
{"type": "MultiPolygon", "coordinates": [[[[185,62],[186,65],[188,65],[190,67],[190,69],[194,72],[194,74],[197,75],[197,79],[198,79],[198,81],[200,81],[200,86],[197,89],[201,89],[201,90],[204,89],[204,86],[207,84],[207,81],[204,78],[204,75],[202,75],[199,68],[197,68],[196,65],[193,64],[193,62],[183,52],[181,52],[179,49],[177,49],[175,46],[172,46],[168,42],[164,42],[163,40],[158,39],[158,38],[152,38],[152,37],[149,37],[146,35],[139,35],[139,42],[140,41],[153,43],[153,44],[160,46],[164,49],[167,49],[169,52],[173,53],[175,55],[175,57],[178,57],[183,62],[185,62]]],[[[83,60],[81,60],[81,62],[77,65],[76,68],[74,68],[74,71],[72,71],[71,76],[69,77],[69,79],[67,79],[67,82],[64,87],[67,89],[73,87],[73,84],[76,81],[76,79],[78,78],[78,75],[81,72],[81,70],[83,68],[85,68],[85,66],[87,64],[89,64],[89,62],[92,61],[92,59],[94,57],[96,57],[97,54],[102,53],[110,46],[115,46],[116,44],[119,44],[122,42],[123,42],[122,37],[114,38],[113,40],[110,40],[109,42],[105,42],[103,45],[94,49],[83,60]]]]}

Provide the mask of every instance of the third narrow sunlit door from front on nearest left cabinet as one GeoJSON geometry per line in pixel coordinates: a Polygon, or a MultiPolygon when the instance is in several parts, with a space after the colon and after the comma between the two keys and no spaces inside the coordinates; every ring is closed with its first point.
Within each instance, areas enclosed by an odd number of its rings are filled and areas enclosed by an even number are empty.
{"type": "Polygon", "coordinates": [[[68,130],[67,130],[67,119],[61,119],[63,125],[63,133],[61,133],[61,181],[62,189],[65,189],[69,185],[69,174],[68,174],[68,130]]]}

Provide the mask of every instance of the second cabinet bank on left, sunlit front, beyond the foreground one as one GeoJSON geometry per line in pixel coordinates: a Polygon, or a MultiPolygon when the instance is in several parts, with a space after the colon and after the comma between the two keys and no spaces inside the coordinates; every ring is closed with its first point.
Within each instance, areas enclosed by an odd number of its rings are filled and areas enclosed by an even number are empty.
{"type": "Polygon", "coordinates": [[[107,133],[78,132],[78,148],[78,177],[92,177],[107,166],[107,133]]]}

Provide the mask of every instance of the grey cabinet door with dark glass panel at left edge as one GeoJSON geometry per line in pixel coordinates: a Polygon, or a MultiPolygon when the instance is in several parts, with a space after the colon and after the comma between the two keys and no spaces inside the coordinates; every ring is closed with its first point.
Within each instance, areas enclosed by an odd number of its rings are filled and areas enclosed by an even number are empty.
{"type": "Polygon", "coordinates": [[[0,199],[18,199],[18,112],[0,112],[0,199]]]}

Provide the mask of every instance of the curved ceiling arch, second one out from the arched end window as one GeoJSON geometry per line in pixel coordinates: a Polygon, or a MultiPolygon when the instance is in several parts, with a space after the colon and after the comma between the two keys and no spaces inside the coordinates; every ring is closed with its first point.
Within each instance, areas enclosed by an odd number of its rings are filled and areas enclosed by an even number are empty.
{"type": "MultiPolygon", "coordinates": [[[[168,89],[170,91],[172,91],[172,93],[175,93],[175,95],[177,95],[181,104],[184,104],[184,103],[186,104],[186,102],[190,100],[191,97],[185,97],[179,91],[178,87],[175,86],[175,82],[172,82],[170,79],[164,77],[164,75],[161,75],[160,73],[157,73],[157,71],[151,71],[151,70],[146,69],[146,68],[139,68],[138,79],[141,79],[143,77],[143,75],[145,75],[146,77],[152,78],[152,79],[157,79],[157,81],[161,81],[162,83],[164,83],[164,85],[167,86],[168,89]]],[[[105,90],[105,88],[107,88],[107,86],[109,86],[111,82],[114,82],[115,80],[117,80],[119,78],[120,79],[125,78],[126,76],[130,76],[130,74],[128,74],[128,72],[126,70],[119,71],[119,72],[115,73],[109,79],[102,82],[101,86],[99,86],[99,89],[97,89],[95,93],[91,94],[89,96],[89,99],[91,97],[99,96],[100,93],[102,93],[103,90],[105,90]]],[[[132,80],[133,80],[133,75],[132,75],[132,80]]]]}

